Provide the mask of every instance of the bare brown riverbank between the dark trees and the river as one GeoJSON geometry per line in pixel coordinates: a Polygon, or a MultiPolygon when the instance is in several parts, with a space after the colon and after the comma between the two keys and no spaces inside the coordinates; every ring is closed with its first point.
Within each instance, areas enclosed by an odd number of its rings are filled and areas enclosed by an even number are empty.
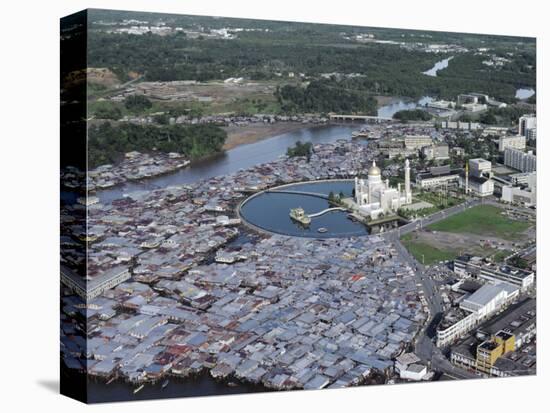
{"type": "Polygon", "coordinates": [[[223,129],[227,132],[227,139],[223,149],[230,150],[239,145],[255,143],[276,135],[311,127],[311,123],[302,122],[250,123],[245,126],[225,126],[223,129]]]}

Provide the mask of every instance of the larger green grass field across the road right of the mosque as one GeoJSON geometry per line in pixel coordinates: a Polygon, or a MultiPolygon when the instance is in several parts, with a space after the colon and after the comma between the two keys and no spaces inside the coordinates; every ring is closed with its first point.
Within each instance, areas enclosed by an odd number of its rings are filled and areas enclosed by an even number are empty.
{"type": "Polygon", "coordinates": [[[434,231],[494,236],[513,241],[531,225],[511,220],[502,216],[501,212],[500,208],[492,205],[478,205],[428,228],[434,231]]]}

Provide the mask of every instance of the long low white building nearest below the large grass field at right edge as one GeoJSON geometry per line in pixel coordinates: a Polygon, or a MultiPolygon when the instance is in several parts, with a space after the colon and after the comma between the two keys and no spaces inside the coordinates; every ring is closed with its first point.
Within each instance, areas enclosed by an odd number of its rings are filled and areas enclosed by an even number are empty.
{"type": "Polygon", "coordinates": [[[463,277],[472,277],[490,282],[506,282],[526,290],[535,282],[535,273],[530,270],[505,264],[494,264],[481,257],[463,255],[455,258],[454,272],[463,277]]]}

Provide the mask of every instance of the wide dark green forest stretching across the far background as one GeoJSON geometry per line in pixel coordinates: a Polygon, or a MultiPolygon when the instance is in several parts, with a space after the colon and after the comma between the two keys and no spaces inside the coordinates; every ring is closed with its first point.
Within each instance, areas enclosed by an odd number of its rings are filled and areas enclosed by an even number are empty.
{"type": "MultiPolygon", "coordinates": [[[[344,89],[344,95],[348,89],[371,95],[411,98],[428,95],[449,99],[459,93],[476,91],[509,103],[514,101],[516,88],[536,84],[534,47],[531,44],[513,47],[508,38],[503,38],[503,46],[495,43],[496,54],[513,55],[511,62],[503,67],[483,64],[486,57],[478,53],[459,53],[448,68],[432,77],[422,72],[441,60],[440,55],[392,44],[360,44],[342,38],[337,42],[330,26],[307,27],[248,32],[232,40],[191,38],[183,32],[171,36],[138,36],[91,31],[88,65],[108,67],[122,81],[128,79],[129,72],[143,74],[146,80],[152,81],[244,77],[252,81],[279,79],[282,83],[290,73],[313,81],[336,73],[344,77],[331,85],[332,90],[344,89]]],[[[316,92],[322,91],[316,90],[313,94],[316,92]]],[[[328,96],[329,100],[341,97],[328,96]]],[[[289,109],[319,106],[314,97],[311,103],[307,96],[293,96],[289,102],[296,103],[294,98],[303,103],[290,105],[289,109]]],[[[328,106],[333,104],[339,106],[337,102],[330,102],[328,106]]]]}

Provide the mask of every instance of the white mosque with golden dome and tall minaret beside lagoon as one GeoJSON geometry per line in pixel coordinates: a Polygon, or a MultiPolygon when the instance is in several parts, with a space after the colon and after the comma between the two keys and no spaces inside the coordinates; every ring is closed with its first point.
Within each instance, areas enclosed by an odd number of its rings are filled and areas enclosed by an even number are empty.
{"type": "Polygon", "coordinates": [[[355,203],[359,212],[377,219],[381,215],[395,213],[403,205],[412,203],[411,168],[409,160],[405,160],[405,190],[401,192],[401,184],[397,188],[390,187],[389,179],[382,180],[380,168],[376,162],[368,170],[368,179],[355,177],[355,203]]]}

